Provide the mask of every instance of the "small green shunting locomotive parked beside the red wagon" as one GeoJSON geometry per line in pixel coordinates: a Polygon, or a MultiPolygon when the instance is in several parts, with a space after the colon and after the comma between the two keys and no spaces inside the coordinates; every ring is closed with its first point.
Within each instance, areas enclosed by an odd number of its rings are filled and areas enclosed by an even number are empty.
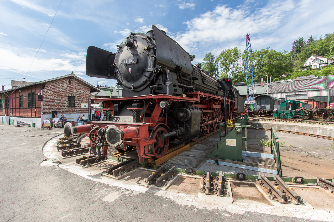
{"type": "Polygon", "coordinates": [[[273,117],[294,118],[304,115],[304,102],[299,100],[286,100],[280,104],[280,109],[273,110],[273,117]]]}

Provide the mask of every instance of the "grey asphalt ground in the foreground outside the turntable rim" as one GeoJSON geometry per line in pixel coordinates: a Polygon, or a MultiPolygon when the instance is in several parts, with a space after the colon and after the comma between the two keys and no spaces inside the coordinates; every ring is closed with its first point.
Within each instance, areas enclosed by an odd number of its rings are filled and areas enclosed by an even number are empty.
{"type": "Polygon", "coordinates": [[[0,221],[312,221],[271,215],[270,209],[265,214],[182,205],[41,166],[43,144],[58,133],[0,124],[0,221]]]}

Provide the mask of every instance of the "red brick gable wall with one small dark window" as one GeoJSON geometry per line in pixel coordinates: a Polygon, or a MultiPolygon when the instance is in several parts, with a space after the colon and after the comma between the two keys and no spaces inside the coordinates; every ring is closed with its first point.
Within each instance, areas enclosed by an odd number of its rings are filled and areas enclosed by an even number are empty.
{"type": "Polygon", "coordinates": [[[77,79],[65,77],[46,82],[43,89],[43,113],[88,113],[88,108],[81,109],[81,103],[88,103],[91,95],[90,86],[77,79]],[[75,96],[75,107],[68,107],[67,96],[75,96]]]}

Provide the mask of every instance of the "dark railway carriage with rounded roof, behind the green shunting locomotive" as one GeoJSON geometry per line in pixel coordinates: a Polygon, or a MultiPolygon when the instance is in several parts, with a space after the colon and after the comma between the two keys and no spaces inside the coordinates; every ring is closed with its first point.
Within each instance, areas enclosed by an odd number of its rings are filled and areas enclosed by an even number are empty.
{"type": "Polygon", "coordinates": [[[272,114],[275,108],[280,109],[281,99],[270,95],[258,95],[254,98],[254,112],[262,114],[272,114]]]}

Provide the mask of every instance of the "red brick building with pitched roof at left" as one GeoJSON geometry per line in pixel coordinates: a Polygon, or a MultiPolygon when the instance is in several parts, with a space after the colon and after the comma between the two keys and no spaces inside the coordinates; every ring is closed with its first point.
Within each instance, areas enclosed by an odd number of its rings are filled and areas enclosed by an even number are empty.
{"type": "Polygon", "coordinates": [[[0,122],[17,125],[18,121],[33,127],[42,127],[42,120],[50,119],[56,112],[58,118],[77,118],[86,114],[88,118],[89,98],[100,90],[69,74],[40,82],[21,85],[12,82],[12,89],[0,91],[0,122]],[[42,101],[41,101],[42,100],[42,101]]]}

